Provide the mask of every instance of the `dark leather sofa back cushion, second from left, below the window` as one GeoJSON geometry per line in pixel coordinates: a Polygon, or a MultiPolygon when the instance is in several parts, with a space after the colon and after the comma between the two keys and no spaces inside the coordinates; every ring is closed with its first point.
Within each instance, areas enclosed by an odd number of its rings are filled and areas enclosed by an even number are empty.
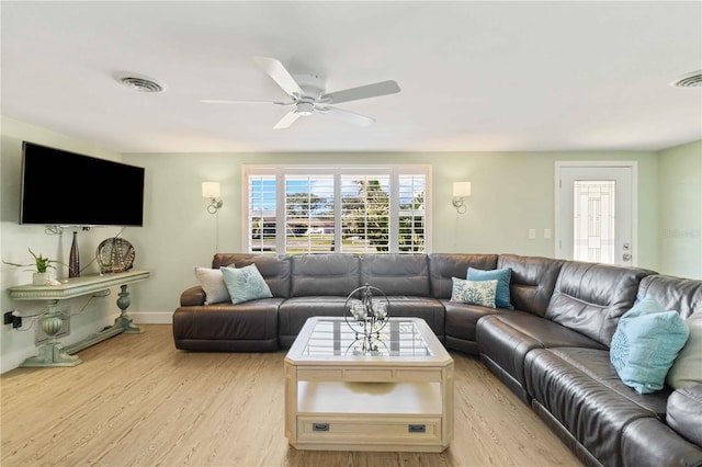
{"type": "Polygon", "coordinates": [[[291,264],[291,297],[346,297],[361,286],[361,259],[356,254],[296,254],[291,264]]]}

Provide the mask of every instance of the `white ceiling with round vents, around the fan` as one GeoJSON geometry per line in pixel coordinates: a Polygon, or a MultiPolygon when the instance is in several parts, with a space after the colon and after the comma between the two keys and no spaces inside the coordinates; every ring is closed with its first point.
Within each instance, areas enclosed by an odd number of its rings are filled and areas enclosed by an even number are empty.
{"type": "Polygon", "coordinates": [[[1,2],[2,115],[120,152],[658,150],[702,139],[700,1],[1,2]],[[273,125],[253,61],[398,94],[273,125]],[[146,75],[134,92],[116,72],[146,75]]]}

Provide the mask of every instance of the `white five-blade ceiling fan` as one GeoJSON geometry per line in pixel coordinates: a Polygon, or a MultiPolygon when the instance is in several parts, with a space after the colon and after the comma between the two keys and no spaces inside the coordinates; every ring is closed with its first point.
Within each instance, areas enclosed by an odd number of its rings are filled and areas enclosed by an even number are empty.
{"type": "Polygon", "coordinates": [[[399,86],[395,81],[381,81],[342,91],[326,92],[325,82],[315,75],[291,75],[280,60],[270,57],[254,57],[260,66],[290,96],[290,101],[227,101],[218,99],[205,99],[202,102],[211,104],[230,103],[270,103],[281,106],[294,107],[273,126],[274,129],[288,128],[297,118],[321,113],[336,116],[348,123],[369,126],[375,119],[354,112],[332,107],[330,104],[358,101],[367,98],[377,98],[399,92],[399,86]]]}

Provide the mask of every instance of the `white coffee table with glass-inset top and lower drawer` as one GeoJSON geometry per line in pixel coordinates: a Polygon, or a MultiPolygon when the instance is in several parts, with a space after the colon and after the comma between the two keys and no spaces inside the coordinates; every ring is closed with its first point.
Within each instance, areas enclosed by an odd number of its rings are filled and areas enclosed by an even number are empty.
{"type": "Polygon", "coordinates": [[[344,318],[309,318],[285,357],[285,436],[298,449],[444,451],[453,360],[419,318],[363,350],[344,318]]]}

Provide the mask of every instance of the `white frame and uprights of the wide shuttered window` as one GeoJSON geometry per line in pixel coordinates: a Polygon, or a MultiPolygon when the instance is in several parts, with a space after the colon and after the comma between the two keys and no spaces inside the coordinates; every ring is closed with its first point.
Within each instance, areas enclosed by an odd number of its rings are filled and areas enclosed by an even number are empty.
{"type": "MultiPolygon", "coordinates": [[[[424,185],[424,253],[431,252],[432,246],[432,215],[431,215],[431,164],[328,164],[328,166],[279,166],[279,164],[244,164],[241,168],[241,251],[249,251],[249,176],[250,175],[275,175],[275,183],[280,185],[285,175],[314,175],[314,174],[333,174],[335,178],[335,198],[341,198],[341,175],[352,174],[389,174],[390,175],[390,200],[399,197],[399,185],[396,183],[398,175],[426,175],[424,185]]],[[[285,191],[276,191],[276,205],[285,205],[285,191]]],[[[399,206],[396,203],[390,204],[390,219],[397,219],[399,216],[399,206]]],[[[275,213],[276,227],[284,225],[285,210],[278,209],[275,213]]],[[[341,225],[341,209],[335,209],[335,225],[341,225]]],[[[335,229],[335,244],[341,244],[341,229],[335,229]]],[[[278,254],[285,251],[285,236],[276,232],[275,250],[278,254]]],[[[389,253],[399,253],[398,249],[399,234],[396,228],[390,228],[389,253]]]]}

